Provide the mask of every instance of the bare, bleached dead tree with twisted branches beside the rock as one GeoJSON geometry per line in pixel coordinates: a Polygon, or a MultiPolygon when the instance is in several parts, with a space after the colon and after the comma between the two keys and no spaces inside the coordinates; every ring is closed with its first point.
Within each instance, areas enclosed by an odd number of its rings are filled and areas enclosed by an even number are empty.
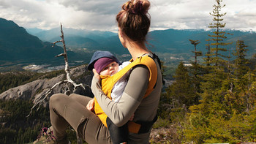
{"type": "MultiPolygon", "coordinates": [[[[45,92],[45,94],[42,94],[41,96],[39,96],[39,98],[36,99],[36,102],[34,103],[33,107],[31,107],[30,113],[29,115],[27,115],[27,117],[29,117],[32,113],[32,110],[34,110],[34,107],[37,107],[37,110],[39,110],[40,105],[42,105],[42,102],[48,98],[48,96],[52,93],[53,88],[56,88],[56,86],[59,86],[61,84],[66,84],[67,85],[67,91],[65,91],[65,94],[72,94],[73,91],[75,91],[78,87],[82,87],[83,89],[86,89],[83,83],[80,84],[76,84],[70,77],[70,69],[69,69],[69,62],[68,62],[68,58],[67,58],[67,48],[66,48],[66,44],[65,44],[65,40],[64,40],[64,32],[62,30],[62,24],[61,24],[61,40],[53,42],[53,47],[56,45],[56,43],[58,42],[62,42],[63,44],[63,50],[64,53],[59,54],[58,56],[55,57],[60,57],[60,56],[64,56],[64,61],[65,61],[65,72],[66,72],[66,77],[67,80],[62,80],[59,83],[56,83],[54,86],[52,86],[48,91],[45,92]],[[72,86],[69,86],[69,84],[72,84],[72,86]]],[[[89,86],[88,86],[89,87],[89,86]]]]}

